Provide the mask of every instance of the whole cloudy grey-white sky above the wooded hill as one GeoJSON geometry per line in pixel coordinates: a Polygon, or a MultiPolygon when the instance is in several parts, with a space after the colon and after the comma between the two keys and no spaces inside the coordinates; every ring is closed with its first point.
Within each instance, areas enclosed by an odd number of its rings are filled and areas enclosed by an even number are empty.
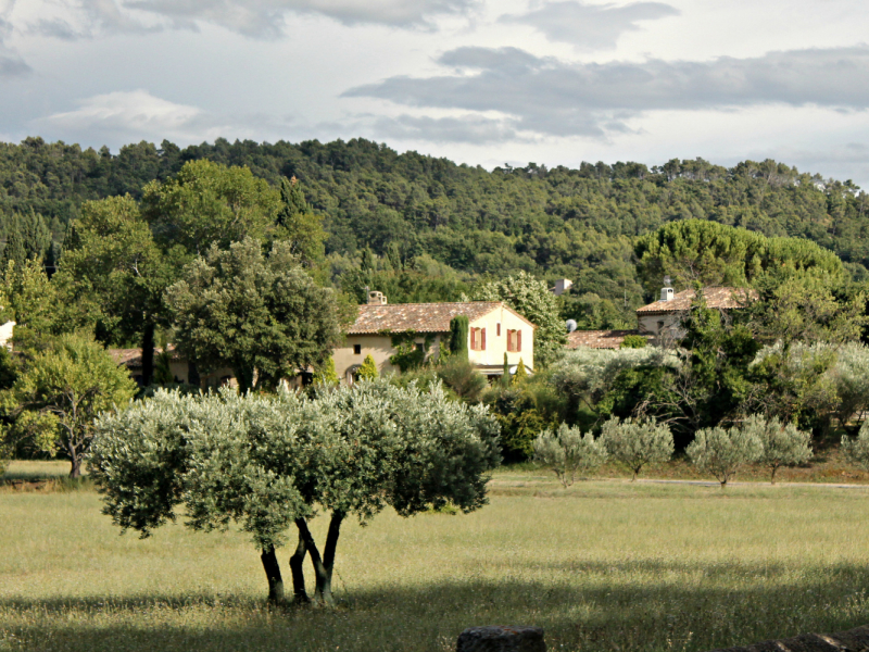
{"type": "Polygon", "coordinates": [[[0,0],[0,140],[774,158],[869,188],[865,0],[0,0]]]}

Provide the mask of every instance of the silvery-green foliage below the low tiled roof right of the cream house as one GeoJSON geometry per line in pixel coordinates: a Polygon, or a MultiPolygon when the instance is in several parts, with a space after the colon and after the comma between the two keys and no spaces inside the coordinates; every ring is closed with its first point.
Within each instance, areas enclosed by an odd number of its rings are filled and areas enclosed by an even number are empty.
{"type": "Polygon", "coordinates": [[[656,347],[642,349],[590,349],[580,347],[565,352],[552,366],[556,389],[572,396],[604,393],[622,369],[638,366],[679,366],[671,350],[656,347]]]}

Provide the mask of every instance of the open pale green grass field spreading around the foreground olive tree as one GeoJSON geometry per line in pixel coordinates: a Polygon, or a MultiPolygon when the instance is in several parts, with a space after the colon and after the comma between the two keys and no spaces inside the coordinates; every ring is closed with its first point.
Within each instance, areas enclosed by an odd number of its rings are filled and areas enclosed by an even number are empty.
{"type": "Polygon", "coordinates": [[[869,623],[867,506],[864,487],[565,491],[507,469],[478,513],[348,524],[339,606],[281,612],[245,536],[142,541],[91,490],[8,487],[0,650],[446,651],[465,627],[528,624],[551,650],[688,652],[835,631],[869,623]]]}

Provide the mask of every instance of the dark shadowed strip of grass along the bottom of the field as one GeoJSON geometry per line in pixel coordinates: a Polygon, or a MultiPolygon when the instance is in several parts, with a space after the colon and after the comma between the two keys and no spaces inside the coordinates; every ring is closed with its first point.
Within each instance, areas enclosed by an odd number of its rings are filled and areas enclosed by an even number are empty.
{"type": "Polygon", "coordinates": [[[441,652],[466,627],[514,624],[545,628],[551,650],[692,652],[866,624],[867,586],[859,565],[801,575],[646,561],[505,567],[498,581],[468,568],[452,582],[342,593],[332,610],[204,594],[0,600],[0,649],[441,652]],[[516,577],[541,569],[546,581],[516,577]]]}

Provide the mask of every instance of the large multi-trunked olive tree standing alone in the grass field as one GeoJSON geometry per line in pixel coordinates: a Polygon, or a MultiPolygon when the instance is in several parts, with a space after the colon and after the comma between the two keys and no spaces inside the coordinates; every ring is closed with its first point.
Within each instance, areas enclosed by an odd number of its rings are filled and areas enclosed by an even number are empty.
{"type": "Polygon", "coordinates": [[[448,503],[474,511],[486,504],[487,472],[500,461],[498,425],[483,408],[449,401],[440,388],[385,381],[314,399],[164,391],[103,415],[97,429],[91,473],[117,525],[148,537],[179,506],[196,530],[235,522],[262,552],[274,603],[284,602],[275,551],[291,526],[294,600],[308,601],[310,555],[314,601],[330,604],[345,518],[366,523],[387,506],[402,516],[448,503]],[[322,552],[308,529],[318,510],[329,515],[322,552]]]}

